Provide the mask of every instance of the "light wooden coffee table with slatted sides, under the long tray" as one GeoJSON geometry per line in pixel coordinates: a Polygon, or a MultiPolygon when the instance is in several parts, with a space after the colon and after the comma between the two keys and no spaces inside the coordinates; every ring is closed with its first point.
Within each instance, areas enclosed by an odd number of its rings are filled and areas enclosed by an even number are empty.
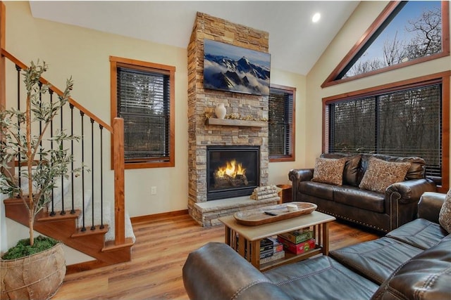
{"type": "Polygon", "coordinates": [[[317,254],[327,255],[329,253],[329,222],[335,221],[335,217],[313,211],[311,214],[259,226],[242,225],[237,223],[233,216],[224,216],[219,221],[226,225],[226,244],[237,250],[238,254],[259,270],[268,270],[281,264],[308,259],[317,254]],[[316,240],[314,249],[299,255],[285,252],[285,259],[271,261],[260,266],[260,240],[303,228],[313,228],[316,240]],[[245,254],[245,249],[251,250],[250,255],[245,254]]]}

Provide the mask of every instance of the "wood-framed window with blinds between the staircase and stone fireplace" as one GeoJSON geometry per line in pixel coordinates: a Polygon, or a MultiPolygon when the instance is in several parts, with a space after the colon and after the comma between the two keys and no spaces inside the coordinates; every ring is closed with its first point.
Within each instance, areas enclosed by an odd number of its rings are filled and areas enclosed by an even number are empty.
{"type": "Polygon", "coordinates": [[[173,167],[175,68],[121,58],[111,63],[112,117],[124,119],[125,169],[173,167]]]}

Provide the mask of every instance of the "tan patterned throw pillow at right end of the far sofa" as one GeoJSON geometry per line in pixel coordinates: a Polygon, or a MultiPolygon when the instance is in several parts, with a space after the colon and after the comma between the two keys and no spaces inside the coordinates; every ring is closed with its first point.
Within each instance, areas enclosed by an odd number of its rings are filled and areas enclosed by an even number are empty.
{"type": "Polygon", "coordinates": [[[409,169],[410,162],[385,162],[385,160],[371,157],[359,188],[385,193],[388,186],[404,181],[409,169]]]}

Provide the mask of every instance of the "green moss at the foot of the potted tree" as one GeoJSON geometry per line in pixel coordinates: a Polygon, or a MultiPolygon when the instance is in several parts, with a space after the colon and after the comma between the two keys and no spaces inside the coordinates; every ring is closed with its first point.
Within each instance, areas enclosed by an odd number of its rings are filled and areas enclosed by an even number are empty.
{"type": "Polygon", "coordinates": [[[54,245],[56,244],[58,244],[57,240],[54,240],[50,237],[44,237],[42,235],[35,237],[35,244],[33,244],[32,246],[30,246],[29,238],[23,239],[18,241],[16,246],[8,249],[8,252],[1,256],[1,259],[20,259],[25,256],[43,252],[47,249],[50,249],[51,247],[54,247],[54,245]]]}

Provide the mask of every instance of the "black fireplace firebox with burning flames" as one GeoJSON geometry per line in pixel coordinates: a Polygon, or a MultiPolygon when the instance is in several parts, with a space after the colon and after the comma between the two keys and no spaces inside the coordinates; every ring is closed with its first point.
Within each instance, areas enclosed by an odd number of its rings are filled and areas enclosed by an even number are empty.
{"type": "Polygon", "coordinates": [[[206,172],[207,201],[251,195],[260,181],[260,148],[209,146],[206,172]]]}

